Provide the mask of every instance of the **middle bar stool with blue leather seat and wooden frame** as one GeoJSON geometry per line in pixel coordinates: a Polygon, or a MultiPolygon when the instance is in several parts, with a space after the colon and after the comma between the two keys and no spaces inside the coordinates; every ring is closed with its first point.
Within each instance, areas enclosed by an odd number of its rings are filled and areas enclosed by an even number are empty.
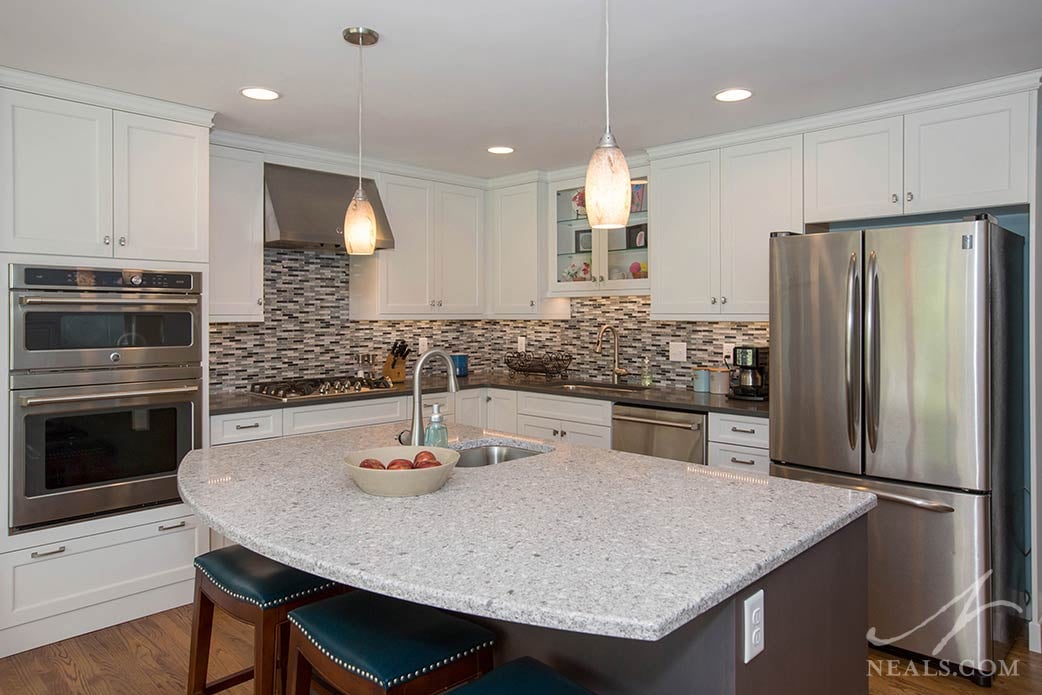
{"type": "Polygon", "coordinates": [[[350,695],[433,695],[492,670],[492,631],[437,609],[354,591],[290,613],[288,695],[317,673],[350,695]]]}

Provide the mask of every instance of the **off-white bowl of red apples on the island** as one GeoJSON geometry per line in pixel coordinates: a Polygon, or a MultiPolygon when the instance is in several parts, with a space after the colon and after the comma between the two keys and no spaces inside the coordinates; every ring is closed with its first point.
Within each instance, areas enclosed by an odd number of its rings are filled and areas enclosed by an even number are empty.
{"type": "Polygon", "coordinates": [[[388,446],[347,454],[347,473],[363,492],[416,497],[441,489],[460,452],[433,446],[388,446]]]}

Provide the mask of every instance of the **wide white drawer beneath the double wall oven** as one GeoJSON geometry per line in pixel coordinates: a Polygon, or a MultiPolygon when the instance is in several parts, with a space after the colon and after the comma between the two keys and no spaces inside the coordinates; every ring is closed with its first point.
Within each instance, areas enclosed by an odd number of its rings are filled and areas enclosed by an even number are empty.
{"type": "Polygon", "coordinates": [[[0,629],[189,581],[207,547],[208,529],[188,516],[5,553],[0,629]]]}

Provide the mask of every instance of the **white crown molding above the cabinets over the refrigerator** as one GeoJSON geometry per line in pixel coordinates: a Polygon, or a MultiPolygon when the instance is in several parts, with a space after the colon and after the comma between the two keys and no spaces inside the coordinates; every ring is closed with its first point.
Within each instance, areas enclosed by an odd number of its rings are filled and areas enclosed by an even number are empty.
{"type": "Polygon", "coordinates": [[[1042,80],[1042,70],[1033,70],[983,82],[973,82],[972,84],[927,92],[912,97],[882,101],[867,106],[845,108],[818,116],[746,128],[745,130],[735,130],[719,135],[686,140],[669,145],[659,145],[647,148],[647,152],[652,159],[661,159],[663,157],[694,154],[696,152],[704,152],[705,150],[730,147],[731,145],[744,145],[760,140],[798,135],[814,130],[835,128],[837,126],[863,123],[865,121],[875,121],[892,116],[904,116],[927,108],[950,106],[977,99],[1038,90],[1040,80],[1042,80]]]}

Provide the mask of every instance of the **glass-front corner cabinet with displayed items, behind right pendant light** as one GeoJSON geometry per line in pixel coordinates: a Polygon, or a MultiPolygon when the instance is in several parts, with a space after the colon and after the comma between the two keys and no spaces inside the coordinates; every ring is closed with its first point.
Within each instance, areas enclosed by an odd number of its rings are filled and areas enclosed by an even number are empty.
{"type": "Polygon", "coordinates": [[[584,179],[550,188],[550,294],[557,297],[641,295],[648,280],[647,168],[630,171],[629,222],[624,229],[590,228],[584,179]]]}

